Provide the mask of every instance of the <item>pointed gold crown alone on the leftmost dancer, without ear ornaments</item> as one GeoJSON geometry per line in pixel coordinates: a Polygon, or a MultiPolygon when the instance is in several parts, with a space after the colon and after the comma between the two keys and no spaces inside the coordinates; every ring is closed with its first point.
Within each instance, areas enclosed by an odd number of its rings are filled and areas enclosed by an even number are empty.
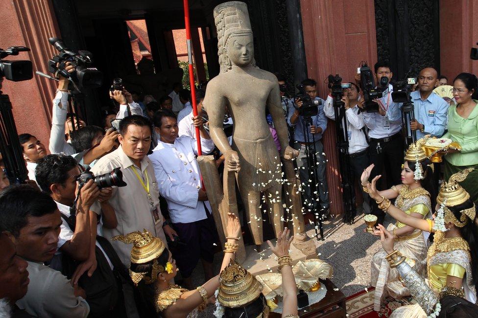
{"type": "Polygon", "coordinates": [[[143,264],[159,257],[165,250],[161,239],[154,237],[147,229],[143,232],[136,231],[126,235],[117,235],[112,240],[133,244],[131,250],[131,263],[143,264]]]}

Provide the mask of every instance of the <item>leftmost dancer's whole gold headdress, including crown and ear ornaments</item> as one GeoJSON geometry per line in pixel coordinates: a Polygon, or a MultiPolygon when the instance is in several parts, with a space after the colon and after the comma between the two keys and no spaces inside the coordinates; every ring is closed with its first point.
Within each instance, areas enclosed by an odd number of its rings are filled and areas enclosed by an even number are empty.
{"type": "Polygon", "coordinates": [[[124,244],[133,244],[131,263],[144,264],[154,260],[150,277],[146,276],[147,273],[137,273],[129,270],[131,279],[136,285],[142,279],[146,284],[151,284],[158,278],[159,273],[166,272],[165,267],[160,265],[156,259],[165,250],[165,244],[161,239],[154,237],[147,229],[143,229],[143,232],[136,231],[126,235],[117,235],[112,240],[124,244]]]}

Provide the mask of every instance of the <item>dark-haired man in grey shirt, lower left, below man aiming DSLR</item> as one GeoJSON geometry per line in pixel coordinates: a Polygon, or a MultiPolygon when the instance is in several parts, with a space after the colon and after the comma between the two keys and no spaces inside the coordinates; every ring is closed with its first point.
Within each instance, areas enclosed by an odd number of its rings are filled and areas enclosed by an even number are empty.
{"type": "Polygon", "coordinates": [[[44,265],[57,250],[61,217],[48,194],[29,185],[0,193],[0,232],[15,238],[17,255],[27,261],[30,283],[16,302],[34,317],[84,318],[90,312],[85,291],[44,265]]]}

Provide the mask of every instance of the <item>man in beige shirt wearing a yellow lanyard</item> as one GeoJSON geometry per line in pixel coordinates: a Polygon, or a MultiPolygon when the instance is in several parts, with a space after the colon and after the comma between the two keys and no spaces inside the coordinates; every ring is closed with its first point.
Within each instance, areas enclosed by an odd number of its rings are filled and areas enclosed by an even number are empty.
{"type": "MultiPolygon", "coordinates": [[[[119,124],[118,139],[121,146],[99,159],[91,170],[97,176],[120,167],[123,181],[127,183],[123,187],[113,187],[108,202],[116,212],[118,226],[103,227],[103,236],[110,239],[115,235],[126,235],[145,228],[165,243],[165,232],[173,240],[172,234],[176,232],[169,225],[163,227],[158,182],[146,156],[151,145],[151,123],[139,115],[125,117],[119,124]]],[[[96,202],[91,210],[100,214],[100,204],[96,202]]],[[[119,241],[112,241],[111,244],[123,264],[129,268],[132,245],[119,241]]]]}

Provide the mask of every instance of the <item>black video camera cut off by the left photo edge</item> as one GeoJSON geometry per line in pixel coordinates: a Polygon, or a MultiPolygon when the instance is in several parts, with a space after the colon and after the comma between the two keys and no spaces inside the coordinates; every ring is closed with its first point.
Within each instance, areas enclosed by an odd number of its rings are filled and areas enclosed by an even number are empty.
{"type": "Polygon", "coordinates": [[[33,67],[30,61],[3,60],[8,55],[18,55],[30,49],[25,46],[10,46],[6,50],[0,48],[0,79],[5,77],[9,81],[26,81],[33,77],[33,67]]]}

